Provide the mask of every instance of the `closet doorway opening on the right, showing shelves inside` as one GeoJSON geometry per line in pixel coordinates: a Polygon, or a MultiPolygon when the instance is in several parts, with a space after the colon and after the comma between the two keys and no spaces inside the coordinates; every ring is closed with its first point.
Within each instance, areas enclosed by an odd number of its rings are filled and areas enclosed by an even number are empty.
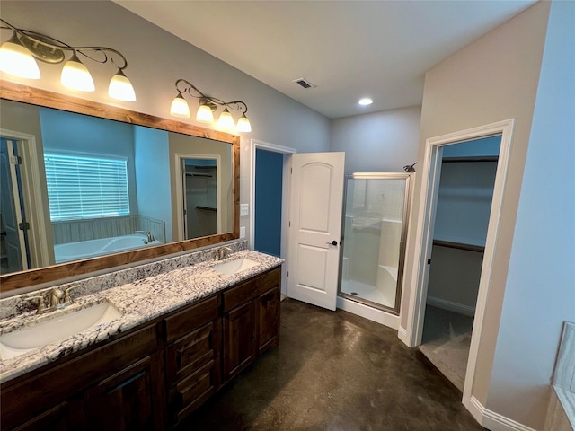
{"type": "Polygon", "coordinates": [[[460,390],[493,198],[501,136],[443,149],[420,351],[460,390]]]}

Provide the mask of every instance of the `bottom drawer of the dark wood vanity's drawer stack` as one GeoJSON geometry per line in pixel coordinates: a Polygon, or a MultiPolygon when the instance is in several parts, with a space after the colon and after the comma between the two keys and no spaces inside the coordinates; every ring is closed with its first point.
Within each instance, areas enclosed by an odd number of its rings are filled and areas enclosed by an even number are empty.
{"type": "Polygon", "coordinates": [[[219,358],[208,362],[196,373],[173,385],[170,389],[170,420],[180,422],[217,390],[219,358]]]}

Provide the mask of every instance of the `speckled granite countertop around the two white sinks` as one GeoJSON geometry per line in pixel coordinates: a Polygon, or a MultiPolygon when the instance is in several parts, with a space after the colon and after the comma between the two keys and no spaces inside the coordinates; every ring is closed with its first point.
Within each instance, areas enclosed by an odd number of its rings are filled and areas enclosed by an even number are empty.
{"type": "MultiPolygon", "coordinates": [[[[185,268],[176,268],[153,277],[146,277],[102,289],[88,295],[78,295],[72,291],[74,303],[54,312],[37,315],[35,312],[23,312],[0,321],[0,334],[35,325],[39,321],[51,320],[54,316],[86,308],[94,303],[107,301],[114,305],[122,316],[119,319],[102,323],[91,330],[85,330],[72,337],[57,341],[44,347],[33,349],[20,356],[2,360],[0,358],[0,383],[4,383],[21,374],[30,372],[42,365],[70,355],[85,347],[130,330],[146,321],[152,321],[168,312],[198,301],[217,291],[253,277],[270,268],[281,265],[279,259],[257,251],[236,251],[227,259],[220,261],[202,261],[185,268]],[[247,258],[259,262],[259,265],[247,268],[231,276],[217,273],[213,266],[234,259],[247,258]]],[[[81,290],[81,289],[78,289],[81,290]]],[[[29,295],[30,296],[30,295],[29,295]]]]}

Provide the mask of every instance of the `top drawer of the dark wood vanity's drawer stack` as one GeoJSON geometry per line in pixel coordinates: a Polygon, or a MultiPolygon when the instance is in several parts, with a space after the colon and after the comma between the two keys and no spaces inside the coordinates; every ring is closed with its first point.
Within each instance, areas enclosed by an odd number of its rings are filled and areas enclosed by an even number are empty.
{"type": "Polygon", "coordinates": [[[190,305],[181,312],[164,319],[166,341],[178,339],[200,326],[217,319],[217,295],[190,305]]]}

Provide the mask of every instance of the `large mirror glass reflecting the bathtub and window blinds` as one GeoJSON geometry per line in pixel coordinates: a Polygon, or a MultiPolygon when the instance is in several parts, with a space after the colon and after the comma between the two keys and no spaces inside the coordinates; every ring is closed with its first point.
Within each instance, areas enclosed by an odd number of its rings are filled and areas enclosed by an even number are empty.
{"type": "Polygon", "coordinates": [[[0,109],[0,274],[234,231],[229,143],[18,101],[0,109]],[[15,158],[35,163],[35,183],[22,184],[15,158]],[[19,226],[39,214],[43,230],[19,226]]]}

